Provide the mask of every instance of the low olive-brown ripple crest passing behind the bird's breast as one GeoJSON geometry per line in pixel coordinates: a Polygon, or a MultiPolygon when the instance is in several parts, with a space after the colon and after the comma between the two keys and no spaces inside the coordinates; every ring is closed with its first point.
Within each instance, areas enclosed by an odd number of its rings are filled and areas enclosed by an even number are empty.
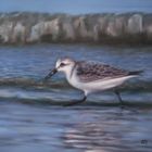
{"type": "MultiPolygon", "coordinates": [[[[35,89],[49,89],[49,88],[64,88],[69,89],[71,86],[64,79],[60,80],[49,80],[45,81],[43,79],[34,79],[34,78],[0,78],[1,87],[24,87],[24,88],[35,88],[35,89]]],[[[131,81],[119,87],[124,91],[152,91],[152,81],[131,81]]]]}

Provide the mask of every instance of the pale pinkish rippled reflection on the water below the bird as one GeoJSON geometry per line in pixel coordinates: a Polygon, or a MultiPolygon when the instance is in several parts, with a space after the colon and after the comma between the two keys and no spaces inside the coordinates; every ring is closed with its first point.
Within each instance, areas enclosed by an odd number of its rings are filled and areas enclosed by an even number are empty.
{"type": "MultiPolygon", "coordinates": [[[[87,113],[86,115],[88,115],[87,113]]],[[[99,115],[99,114],[98,114],[99,115]]],[[[94,116],[94,115],[93,115],[94,116]]],[[[92,115],[90,115],[92,117],[92,115]]],[[[80,122],[64,136],[64,144],[71,149],[83,149],[87,152],[121,151],[125,143],[124,132],[129,131],[129,124],[122,121],[122,115],[94,117],[94,119],[80,122]],[[118,118],[116,118],[116,116],[118,118]],[[123,123],[124,122],[124,123],[123,123]],[[121,130],[119,130],[121,129],[121,130]]]]}

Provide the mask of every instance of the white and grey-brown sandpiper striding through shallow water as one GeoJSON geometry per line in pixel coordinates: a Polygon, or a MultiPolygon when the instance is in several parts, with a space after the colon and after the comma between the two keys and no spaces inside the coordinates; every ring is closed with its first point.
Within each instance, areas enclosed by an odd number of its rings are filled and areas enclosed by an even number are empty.
{"type": "Polygon", "coordinates": [[[86,101],[87,96],[92,92],[113,89],[119,102],[123,100],[116,87],[122,85],[127,79],[137,77],[141,71],[128,72],[116,68],[107,64],[90,62],[90,61],[74,61],[69,58],[59,59],[55,68],[52,69],[45,79],[49,79],[56,72],[63,72],[67,81],[75,88],[84,91],[84,98],[77,102],[68,103],[74,105],[86,101]]]}

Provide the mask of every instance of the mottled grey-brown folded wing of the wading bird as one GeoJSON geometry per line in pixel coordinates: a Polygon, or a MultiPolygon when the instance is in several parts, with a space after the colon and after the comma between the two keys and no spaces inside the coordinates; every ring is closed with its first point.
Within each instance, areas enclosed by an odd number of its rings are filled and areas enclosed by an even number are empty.
{"type": "Polygon", "coordinates": [[[77,62],[77,76],[80,81],[88,83],[105,78],[116,78],[129,75],[129,72],[96,62],[77,62]]]}

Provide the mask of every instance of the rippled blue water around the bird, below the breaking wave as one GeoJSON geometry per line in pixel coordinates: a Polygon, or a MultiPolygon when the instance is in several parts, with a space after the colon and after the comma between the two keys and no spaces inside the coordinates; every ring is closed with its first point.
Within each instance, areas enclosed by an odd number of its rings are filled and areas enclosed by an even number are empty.
{"type": "Polygon", "coordinates": [[[150,152],[152,149],[152,47],[36,45],[0,47],[1,152],[150,152]],[[58,74],[42,78],[60,56],[96,60],[126,69],[143,69],[125,84],[118,106],[113,92],[81,98],[58,74]]]}

